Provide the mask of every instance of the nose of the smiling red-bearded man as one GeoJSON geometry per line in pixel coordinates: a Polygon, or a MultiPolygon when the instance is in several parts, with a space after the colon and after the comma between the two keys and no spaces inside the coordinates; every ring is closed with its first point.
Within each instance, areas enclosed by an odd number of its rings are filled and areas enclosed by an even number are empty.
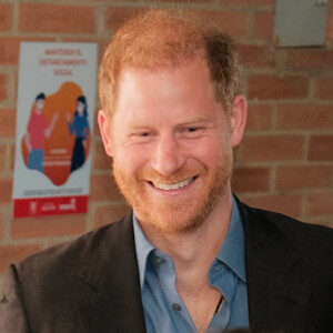
{"type": "Polygon", "coordinates": [[[163,175],[171,175],[183,167],[185,157],[172,134],[159,138],[151,163],[152,168],[163,175]]]}

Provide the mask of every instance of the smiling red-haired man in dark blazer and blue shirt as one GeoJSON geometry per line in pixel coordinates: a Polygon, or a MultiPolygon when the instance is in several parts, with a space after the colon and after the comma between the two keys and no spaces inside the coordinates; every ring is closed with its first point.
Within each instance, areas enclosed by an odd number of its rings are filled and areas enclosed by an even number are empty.
{"type": "Polygon", "coordinates": [[[232,195],[246,100],[230,37],[149,11],[109,46],[100,98],[133,213],[12,265],[4,332],[331,332],[332,230],[232,195]]]}

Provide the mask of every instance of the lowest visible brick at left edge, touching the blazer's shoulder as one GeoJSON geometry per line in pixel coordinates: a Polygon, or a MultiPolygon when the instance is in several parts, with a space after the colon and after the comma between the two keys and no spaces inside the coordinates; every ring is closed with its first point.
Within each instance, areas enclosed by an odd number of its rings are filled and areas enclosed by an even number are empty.
{"type": "Polygon", "coordinates": [[[0,245],[0,272],[12,263],[24,259],[26,256],[40,251],[42,248],[38,244],[31,245],[0,245]]]}

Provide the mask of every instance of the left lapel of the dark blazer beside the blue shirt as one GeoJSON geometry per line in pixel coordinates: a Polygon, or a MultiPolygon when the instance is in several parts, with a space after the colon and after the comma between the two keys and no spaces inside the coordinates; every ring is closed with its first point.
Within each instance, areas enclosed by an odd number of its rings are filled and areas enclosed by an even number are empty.
{"type": "Polygon", "coordinates": [[[74,303],[79,332],[145,332],[132,214],[97,231],[74,303]]]}

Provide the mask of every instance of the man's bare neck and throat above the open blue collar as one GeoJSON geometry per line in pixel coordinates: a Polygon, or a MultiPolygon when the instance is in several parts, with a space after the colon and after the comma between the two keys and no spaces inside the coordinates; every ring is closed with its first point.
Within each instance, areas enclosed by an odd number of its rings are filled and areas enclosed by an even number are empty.
{"type": "Polygon", "coordinates": [[[208,284],[208,271],[223,244],[230,225],[232,196],[231,191],[225,192],[205,221],[192,232],[161,233],[141,223],[150,242],[173,260],[179,286],[192,285],[198,289],[208,284]]]}

